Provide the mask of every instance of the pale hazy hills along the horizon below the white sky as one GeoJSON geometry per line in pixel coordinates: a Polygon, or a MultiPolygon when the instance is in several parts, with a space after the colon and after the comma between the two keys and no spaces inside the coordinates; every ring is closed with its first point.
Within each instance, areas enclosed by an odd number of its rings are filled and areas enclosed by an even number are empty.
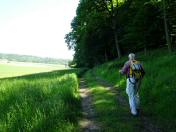
{"type": "Polygon", "coordinates": [[[70,61],[68,59],[55,59],[49,57],[44,58],[31,55],[4,54],[4,53],[0,53],[0,60],[45,63],[45,64],[61,64],[61,65],[66,65],[70,61]]]}

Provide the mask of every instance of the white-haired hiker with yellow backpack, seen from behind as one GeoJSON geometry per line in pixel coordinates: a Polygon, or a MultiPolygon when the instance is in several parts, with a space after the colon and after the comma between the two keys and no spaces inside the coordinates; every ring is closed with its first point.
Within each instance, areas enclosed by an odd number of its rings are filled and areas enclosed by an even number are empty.
{"type": "Polygon", "coordinates": [[[128,58],[129,60],[119,72],[127,77],[126,93],[129,97],[131,114],[137,116],[140,103],[138,90],[145,72],[140,62],[135,60],[135,54],[130,53],[128,58]]]}

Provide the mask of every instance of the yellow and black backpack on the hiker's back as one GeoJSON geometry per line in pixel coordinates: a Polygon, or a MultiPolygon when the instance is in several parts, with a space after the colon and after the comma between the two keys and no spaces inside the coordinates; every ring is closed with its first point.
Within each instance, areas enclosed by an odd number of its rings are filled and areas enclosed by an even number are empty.
{"type": "Polygon", "coordinates": [[[144,77],[144,69],[139,61],[131,61],[130,64],[130,74],[129,77],[135,78],[135,80],[140,80],[144,77]]]}

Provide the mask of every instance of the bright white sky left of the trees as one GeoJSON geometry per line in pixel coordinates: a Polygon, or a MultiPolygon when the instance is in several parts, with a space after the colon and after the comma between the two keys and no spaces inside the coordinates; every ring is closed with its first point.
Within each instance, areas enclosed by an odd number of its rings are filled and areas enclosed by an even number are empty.
{"type": "Polygon", "coordinates": [[[79,0],[0,0],[0,53],[72,59],[64,37],[79,0]]]}

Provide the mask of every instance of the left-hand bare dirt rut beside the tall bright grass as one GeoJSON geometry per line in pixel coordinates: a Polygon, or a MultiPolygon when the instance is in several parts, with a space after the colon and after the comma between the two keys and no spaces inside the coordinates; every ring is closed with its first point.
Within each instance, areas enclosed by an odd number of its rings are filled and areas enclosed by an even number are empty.
{"type": "Polygon", "coordinates": [[[81,132],[100,131],[100,128],[95,122],[95,112],[92,105],[90,89],[86,85],[84,79],[80,79],[80,96],[82,99],[83,109],[83,119],[81,119],[79,122],[81,132]]]}

